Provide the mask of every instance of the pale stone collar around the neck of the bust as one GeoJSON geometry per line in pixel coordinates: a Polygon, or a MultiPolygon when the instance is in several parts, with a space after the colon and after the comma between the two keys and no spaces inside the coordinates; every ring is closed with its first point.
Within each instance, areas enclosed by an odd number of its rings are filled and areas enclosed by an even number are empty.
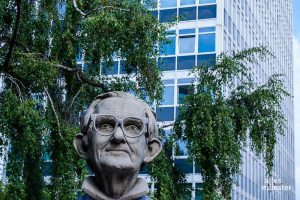
{"type": "Polygon", "coordinates": [[[88,176],[84,180],[82,184],[82,190],[95,200],[134,200],[146,195],[149,192],[147,182],[142,178],[138,178],[130,192],[118,198],[111,198],[106,196],[98,188],[94,180],[94,176],[88,176]]]}

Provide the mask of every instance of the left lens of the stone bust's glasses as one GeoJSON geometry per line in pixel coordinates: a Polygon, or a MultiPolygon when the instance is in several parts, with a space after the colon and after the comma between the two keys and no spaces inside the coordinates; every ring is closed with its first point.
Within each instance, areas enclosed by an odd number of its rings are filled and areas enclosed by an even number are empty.
{"type": "Polygon", "coordinates": [[[95,121],[95,128],[101,134],[110,135],[114,132],[116,124],[116,118],[113,116],[102,115],[97,117],[95,121]]]}

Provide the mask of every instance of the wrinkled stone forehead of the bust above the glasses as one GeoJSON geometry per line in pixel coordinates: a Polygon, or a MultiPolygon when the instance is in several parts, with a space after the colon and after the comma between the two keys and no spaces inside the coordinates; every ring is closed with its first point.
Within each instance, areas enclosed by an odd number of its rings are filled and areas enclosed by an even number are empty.
{"type": "Polygon", "coordinates": [[[114,115],[118,118],[146,117],[145,106],[135,99],[111,97],[97,105],[95,113],[114,115]]]}

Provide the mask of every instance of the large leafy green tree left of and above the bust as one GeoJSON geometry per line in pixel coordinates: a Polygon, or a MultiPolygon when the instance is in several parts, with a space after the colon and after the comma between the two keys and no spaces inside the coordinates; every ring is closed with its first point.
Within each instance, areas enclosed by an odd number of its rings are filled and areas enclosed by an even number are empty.
{"type": "Polygon", "coordinates": [[[76,199],[87,173],[72,146],[79,113],[111,90],[161,99],[157,44],[167,27],[136,0],[0,0],[0,11],[0,133],[10,148],[5,198],[76,199]],[[114,58],[122,79],[105,75],[114,58]]]}

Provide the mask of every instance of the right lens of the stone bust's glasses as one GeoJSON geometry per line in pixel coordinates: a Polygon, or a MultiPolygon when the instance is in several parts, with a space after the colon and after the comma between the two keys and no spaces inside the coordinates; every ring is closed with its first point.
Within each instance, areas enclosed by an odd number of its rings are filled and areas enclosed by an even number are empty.
{"type": "Polygon", "coordinates": [[[144,123],[141,119],[128,117],[123,122],[124,132],[127,136],[135,137],[144,130],[144,123]]]}

